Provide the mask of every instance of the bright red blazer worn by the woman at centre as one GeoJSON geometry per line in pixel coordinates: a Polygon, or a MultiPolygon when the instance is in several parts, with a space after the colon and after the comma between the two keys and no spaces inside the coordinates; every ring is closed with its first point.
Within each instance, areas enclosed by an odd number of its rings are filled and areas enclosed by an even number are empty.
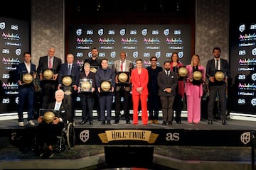
{"type": "Polygon", "coordinates": [[[142,68],[142,73],[138,74],[138,69],[132,69],[132,95],[149,95],[147,84],[149,83],[149,73],[147,69],[142,68]],[[137,91],[138,87],[142,87],[142,94],[137,91]]]}

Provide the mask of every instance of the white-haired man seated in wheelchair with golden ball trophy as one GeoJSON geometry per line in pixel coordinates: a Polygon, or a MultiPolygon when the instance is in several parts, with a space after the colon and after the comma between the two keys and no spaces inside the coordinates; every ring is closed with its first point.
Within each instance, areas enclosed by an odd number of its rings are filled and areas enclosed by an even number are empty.
{"type": "Polygon", "coordinates": [[[55,102],[50,103],[45,113],[38,118],[37,149],[35,149],[37,155],[51,158],[56,149],[60,152],[63,129],[71,116],[67,113],[69,106],[63,101],[63,98],[63,90],[55,91],[55,102]]]}

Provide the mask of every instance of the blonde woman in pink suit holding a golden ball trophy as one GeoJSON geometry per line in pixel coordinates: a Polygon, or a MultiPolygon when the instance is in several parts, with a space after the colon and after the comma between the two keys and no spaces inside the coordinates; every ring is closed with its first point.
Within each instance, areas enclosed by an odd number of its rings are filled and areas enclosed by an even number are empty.
{"type": "Polygon", "coordinates": [[[203,96],[203,84],[206,80],[206,69],[200,64],[199,55],[191,57],[191,64],[188,64],[186,69],[188,70],[188,78],[185,83],[188,123],[198,124],[201,120],[201,97],[203,96]],[[196,71],[201,72],[201,79],[193,77],[193,73],[196,71]]]}

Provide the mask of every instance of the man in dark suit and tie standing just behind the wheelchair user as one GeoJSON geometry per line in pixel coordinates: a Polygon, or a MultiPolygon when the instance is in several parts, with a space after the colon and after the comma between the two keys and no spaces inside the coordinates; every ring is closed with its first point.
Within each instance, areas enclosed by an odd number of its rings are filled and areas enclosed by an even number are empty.
{"type": "Polygon", "coordinates": [[[58,73],[58,89],[63,89],[65,93],[64,101],[69,104],[69,113],[72,113],[72,118],[74,118],[75,115],[75,96],[76,91],[79,86],[79,74],[80,74],[80,67],[78,64],[74,63],[74,55],[68,54],[66,57],[66,61],[64,64],[61,64],[60,66],[60,72],[58,73]],[[70,86],[63,85],[63,77],[65,76],[71,76],[73,79],[72,84],[70,86]]]}

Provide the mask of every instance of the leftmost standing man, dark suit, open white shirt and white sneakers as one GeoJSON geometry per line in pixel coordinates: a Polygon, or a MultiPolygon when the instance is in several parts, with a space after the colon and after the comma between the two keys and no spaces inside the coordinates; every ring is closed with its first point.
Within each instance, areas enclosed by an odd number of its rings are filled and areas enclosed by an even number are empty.
{"type": "Polygon", "coordinates": [[[19,126],[24,126],[23,106],[26,103],[26,100],[28,100],[28,124],[35,125],[35,123],[33,123],[34,94],[35,94],[33,79],[36,79],[36,65],[31,63],[31,54],[29,52],[24,52],[23,60],[24,62],[22,62],[21,64],[18,64],[18,67],[16,69],[16,72],[17,72],[16,79],[18,81],[18,125],[19,126]]]}

